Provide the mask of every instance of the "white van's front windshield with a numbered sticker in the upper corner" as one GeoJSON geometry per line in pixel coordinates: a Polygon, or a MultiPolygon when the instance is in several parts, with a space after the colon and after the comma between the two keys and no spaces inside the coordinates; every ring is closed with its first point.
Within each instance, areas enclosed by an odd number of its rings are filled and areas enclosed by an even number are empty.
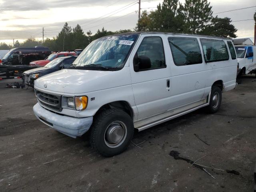
{"type": "Polygon", "coordinates": [[[122,68],[137,38],[137,34],[130,34],[96,39],[85,48],[73,65],[99,67],[97,70],[122,68]]]}

